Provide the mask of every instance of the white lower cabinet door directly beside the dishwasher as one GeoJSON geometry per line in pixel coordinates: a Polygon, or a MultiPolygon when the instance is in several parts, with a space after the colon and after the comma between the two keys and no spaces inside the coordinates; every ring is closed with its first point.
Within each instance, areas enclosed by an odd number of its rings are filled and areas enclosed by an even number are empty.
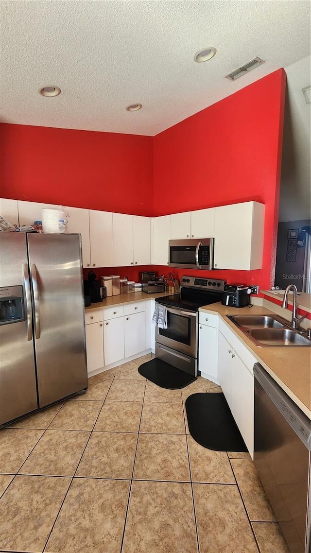
{"type": "Polygon", "coordinates": [[[254,450],[254,377],[234,352],[231,411],[248,451],[254,450]]]}

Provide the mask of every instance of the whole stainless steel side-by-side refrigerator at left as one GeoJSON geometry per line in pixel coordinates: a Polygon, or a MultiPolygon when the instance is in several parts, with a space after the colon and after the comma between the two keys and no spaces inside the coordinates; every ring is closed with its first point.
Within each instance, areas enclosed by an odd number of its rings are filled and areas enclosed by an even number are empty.
{"type": "Polygon", "coordinates": [[[0,426],[87,387],[79,234],[0,232],[0,426]]]}

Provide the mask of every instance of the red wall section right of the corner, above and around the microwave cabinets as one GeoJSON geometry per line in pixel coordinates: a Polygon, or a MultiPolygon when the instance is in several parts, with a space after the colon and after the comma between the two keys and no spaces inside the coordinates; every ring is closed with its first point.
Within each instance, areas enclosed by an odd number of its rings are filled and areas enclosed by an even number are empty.
{"type": "Polygon", "coordinates": [[[279,69],[154,137],[154,215],[250,200],[266,205],[263,268],[202,275],[273,284],[285,87],[279,69]]]}

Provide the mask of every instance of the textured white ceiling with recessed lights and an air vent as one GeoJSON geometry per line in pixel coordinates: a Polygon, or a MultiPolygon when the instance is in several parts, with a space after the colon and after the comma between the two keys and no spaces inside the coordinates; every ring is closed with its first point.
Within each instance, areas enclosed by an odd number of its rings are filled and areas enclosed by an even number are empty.
{"type": "Polygon", "coordinates": [[[0,1],[0,121],[155,135],[310,54],[309,0],[0,1]],[[198,64],[201,48],[215,58],[198,64]],[[265,64],[235,82],[232,70],[265,64]],[[44,98],[38,88],[56,85],[44,98]],[[139,112],[125,107],[141,102],[139,112]]]}

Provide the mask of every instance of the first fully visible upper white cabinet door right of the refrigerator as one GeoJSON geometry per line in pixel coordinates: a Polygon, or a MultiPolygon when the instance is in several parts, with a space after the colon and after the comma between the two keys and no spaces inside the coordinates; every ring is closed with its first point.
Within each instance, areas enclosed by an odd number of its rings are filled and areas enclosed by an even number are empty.
{"type": "Polygon", "coordinates": [[[113,267],[112,213],[90,210],[92,267],[113,267]]]}

